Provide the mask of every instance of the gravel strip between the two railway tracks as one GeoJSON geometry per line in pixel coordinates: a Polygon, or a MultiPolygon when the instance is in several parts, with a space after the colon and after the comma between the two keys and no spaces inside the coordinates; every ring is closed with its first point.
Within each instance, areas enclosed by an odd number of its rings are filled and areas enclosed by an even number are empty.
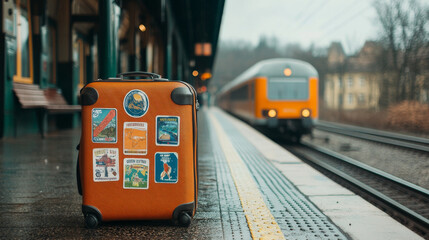
{"type": "Polygon", "coordinates": [[[314,130],[313,136],[313,139],[305,136],[302,141],[331,149],[429,189],[429,154],[319,130],[314,130]]]}

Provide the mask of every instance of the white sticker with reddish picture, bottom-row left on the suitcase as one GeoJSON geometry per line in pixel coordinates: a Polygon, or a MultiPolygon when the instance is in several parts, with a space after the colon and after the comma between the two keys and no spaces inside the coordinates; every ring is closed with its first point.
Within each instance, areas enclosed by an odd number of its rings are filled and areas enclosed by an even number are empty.
{"type": "Polygon", "coordinates": [[[119,150],[94,148],[94,182],[119,181],[119,150]]]}

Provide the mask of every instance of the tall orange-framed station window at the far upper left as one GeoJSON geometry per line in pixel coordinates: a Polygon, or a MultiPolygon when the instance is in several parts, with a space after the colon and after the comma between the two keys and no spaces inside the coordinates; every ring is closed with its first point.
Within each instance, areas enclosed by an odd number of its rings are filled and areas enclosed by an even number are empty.
{"type": "Polygon", "coordinates": [[[16,0],[17,53],[14,81],[33,83],[31,12],[29,0],[16,0]]]}

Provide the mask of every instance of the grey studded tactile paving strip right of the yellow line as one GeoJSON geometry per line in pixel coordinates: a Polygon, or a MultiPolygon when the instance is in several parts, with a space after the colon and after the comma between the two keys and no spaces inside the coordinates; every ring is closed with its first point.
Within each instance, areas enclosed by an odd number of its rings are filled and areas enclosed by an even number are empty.
{"type": "MultiPolygon", "coordinates": [[[[214,116],[214,115],[213,115],[214,116]]],[[[257,182],[268,208],[288,239],[347,237],[286,179],[228,120],[217,115],[238,154],[257,182]]]]}

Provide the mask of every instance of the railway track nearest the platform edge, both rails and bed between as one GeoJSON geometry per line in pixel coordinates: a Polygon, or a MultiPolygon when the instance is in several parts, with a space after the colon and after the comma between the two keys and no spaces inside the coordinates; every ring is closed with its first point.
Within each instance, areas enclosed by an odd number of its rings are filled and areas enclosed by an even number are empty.
{"type": "Polygon", "coordinates": [[[309,143],[284,146],[340,184],[429,238],[429,191],[349,157],[309,143]]]}

